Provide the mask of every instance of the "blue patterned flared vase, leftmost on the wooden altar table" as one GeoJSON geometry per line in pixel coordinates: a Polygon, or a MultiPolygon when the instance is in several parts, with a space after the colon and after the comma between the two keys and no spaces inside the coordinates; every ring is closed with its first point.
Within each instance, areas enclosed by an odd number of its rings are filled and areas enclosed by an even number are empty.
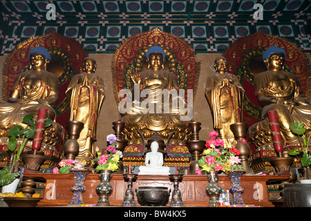
{"type": "Polygon", "coordinates": [[[73,173],[75,184],[71,187],[71,191],[73,191],[73,199],[67,206],[79,206],[84,204],[82,198],[82,193],[86,191],[84,181],[86,180],[86,177],[90,171],[87,169],[72,169],[70,172],[73,173]]]}

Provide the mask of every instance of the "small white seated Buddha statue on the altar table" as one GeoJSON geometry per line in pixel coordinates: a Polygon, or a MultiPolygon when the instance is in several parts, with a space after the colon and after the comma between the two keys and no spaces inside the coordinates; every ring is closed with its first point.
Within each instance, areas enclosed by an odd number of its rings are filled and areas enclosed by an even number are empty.
{"type": "Polygon", "coordinates": [[[146,153],[146,166],[140,166],[138,174],[144,175],[169,175],[169,167],[163,166],[163,154],[158,152],[159,144],[151,143],[151,152],[146,153]]]}

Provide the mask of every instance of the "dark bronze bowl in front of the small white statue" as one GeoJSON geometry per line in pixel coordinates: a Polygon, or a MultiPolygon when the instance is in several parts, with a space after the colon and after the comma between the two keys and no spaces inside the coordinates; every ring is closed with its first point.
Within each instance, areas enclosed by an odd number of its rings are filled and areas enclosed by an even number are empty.
{"type": "Polygon", "coordinates": [[[135,189],[141,206],[165,206],[169,202],[171,189],[160,186],[140,186],[135,189]]]}

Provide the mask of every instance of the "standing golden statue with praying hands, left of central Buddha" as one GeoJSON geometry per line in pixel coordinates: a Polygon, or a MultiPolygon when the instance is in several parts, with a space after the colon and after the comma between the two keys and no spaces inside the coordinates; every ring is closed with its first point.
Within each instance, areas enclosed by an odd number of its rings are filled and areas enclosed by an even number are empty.
{"type": "Polygon", "coordinates": [[[79,154],[77,159],[91,163],[94,158],[93,143],[96,136],[97,119],[104,102],[104,81],[95,74],[95,59],[86,57],[83,61],[84,72],[71,79],[66,90],[70,105],[70,121],[84,123],[77,142],[79,154]]]}

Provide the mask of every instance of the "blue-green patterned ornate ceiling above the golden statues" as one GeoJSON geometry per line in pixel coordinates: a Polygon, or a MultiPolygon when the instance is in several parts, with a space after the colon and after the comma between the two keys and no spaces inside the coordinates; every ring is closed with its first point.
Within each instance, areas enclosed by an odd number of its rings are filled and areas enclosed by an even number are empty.
{"type": "Polygon", "coordinates": [[[285,37],[311,52],[310,0],[1,0],[0,8],[0,55],[50,32],[76,39],[90,53],[113,53],[124,39],[153,28],[186,39],[196,52],[222,52],[258,31],[285,37]],[[49,3],[55,8],[46,9],[49,3]],[[254,19],[261,9],[263,19],[254,19]]]}

